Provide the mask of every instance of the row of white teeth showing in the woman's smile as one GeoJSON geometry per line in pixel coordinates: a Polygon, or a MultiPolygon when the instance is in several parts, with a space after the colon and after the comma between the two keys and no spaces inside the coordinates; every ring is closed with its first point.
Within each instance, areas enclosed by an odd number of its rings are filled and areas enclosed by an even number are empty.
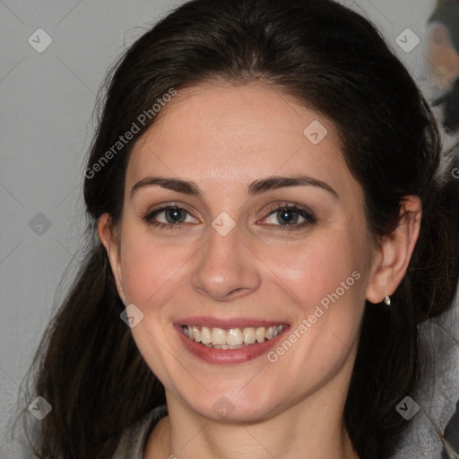
{"type": "Polygon", "coordinates": [[[280,334],[287,325],[245,328],[217,328],[199,325],[181,325],[185,336],[213,349],[242,349],[257,342],[266,342],[280,334]]]}

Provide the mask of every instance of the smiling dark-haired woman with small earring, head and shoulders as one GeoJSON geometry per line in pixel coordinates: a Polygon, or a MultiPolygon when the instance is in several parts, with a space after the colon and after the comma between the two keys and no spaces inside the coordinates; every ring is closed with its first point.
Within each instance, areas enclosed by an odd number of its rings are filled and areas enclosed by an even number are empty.
{"type": "Polygon", "coordinates": [[[91,247],[37,354],[37,457],[394,455],[417,325],[458,278],[440,154],[410,75],[342,5],[170,13],[108,81],[91,247]]]}

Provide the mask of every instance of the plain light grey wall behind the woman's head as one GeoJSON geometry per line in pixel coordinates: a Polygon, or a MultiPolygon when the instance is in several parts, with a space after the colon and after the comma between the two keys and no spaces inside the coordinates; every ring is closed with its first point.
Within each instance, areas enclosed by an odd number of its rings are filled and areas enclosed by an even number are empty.
{"type": "MultiPolygon", "coordinates": [[[[0,0],[0,438],[65,266],[79,256],[83,160],[100,83],[142,27],[178,3],[0,0]],[[53,40],[42,53],[28,43],[40,28],[53,40]],[[51,222],[42,235],[29,226],[38,212],[51,222]]],[[[428,91],[423,42],[433,0],[343,3],[376,23],[428,91]],[[410,53],[395,43],[406,28],[420,38],[410,53]]]]}

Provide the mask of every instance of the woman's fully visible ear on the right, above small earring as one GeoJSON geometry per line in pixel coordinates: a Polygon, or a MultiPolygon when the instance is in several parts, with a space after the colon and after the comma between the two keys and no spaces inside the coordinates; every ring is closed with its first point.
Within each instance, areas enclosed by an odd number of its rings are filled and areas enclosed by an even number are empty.
{"type": "Polygon", "coordinates": [[[403,279],[420,234],[422,204],[418,196],[405,196],[400,221],[392,234],[383,239],[373,262],[366,298],[380,303],[392,295],[403,279]]]}

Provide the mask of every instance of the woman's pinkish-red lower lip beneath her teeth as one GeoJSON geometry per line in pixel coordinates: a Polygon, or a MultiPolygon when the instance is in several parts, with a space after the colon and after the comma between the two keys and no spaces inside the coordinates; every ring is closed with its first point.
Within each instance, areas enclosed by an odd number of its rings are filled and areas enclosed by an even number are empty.
{"type": "Polygon", "coordinates": [[[180,335],[180,339],[185,344],[186,349],[195,355],[195,357],[212,364],[236,364],[256,359],[273,348],[276,342],[281,339],[283,333],[289,329],[289,326],[286,326],[281,333],[271,340],[266,340],[265,342],[255,342],[254,344],[250,344],[244,348],[213,349],[201,344],[200,342],[191,341],[183,333],[181,325],[174,326],[180,335]]]}

